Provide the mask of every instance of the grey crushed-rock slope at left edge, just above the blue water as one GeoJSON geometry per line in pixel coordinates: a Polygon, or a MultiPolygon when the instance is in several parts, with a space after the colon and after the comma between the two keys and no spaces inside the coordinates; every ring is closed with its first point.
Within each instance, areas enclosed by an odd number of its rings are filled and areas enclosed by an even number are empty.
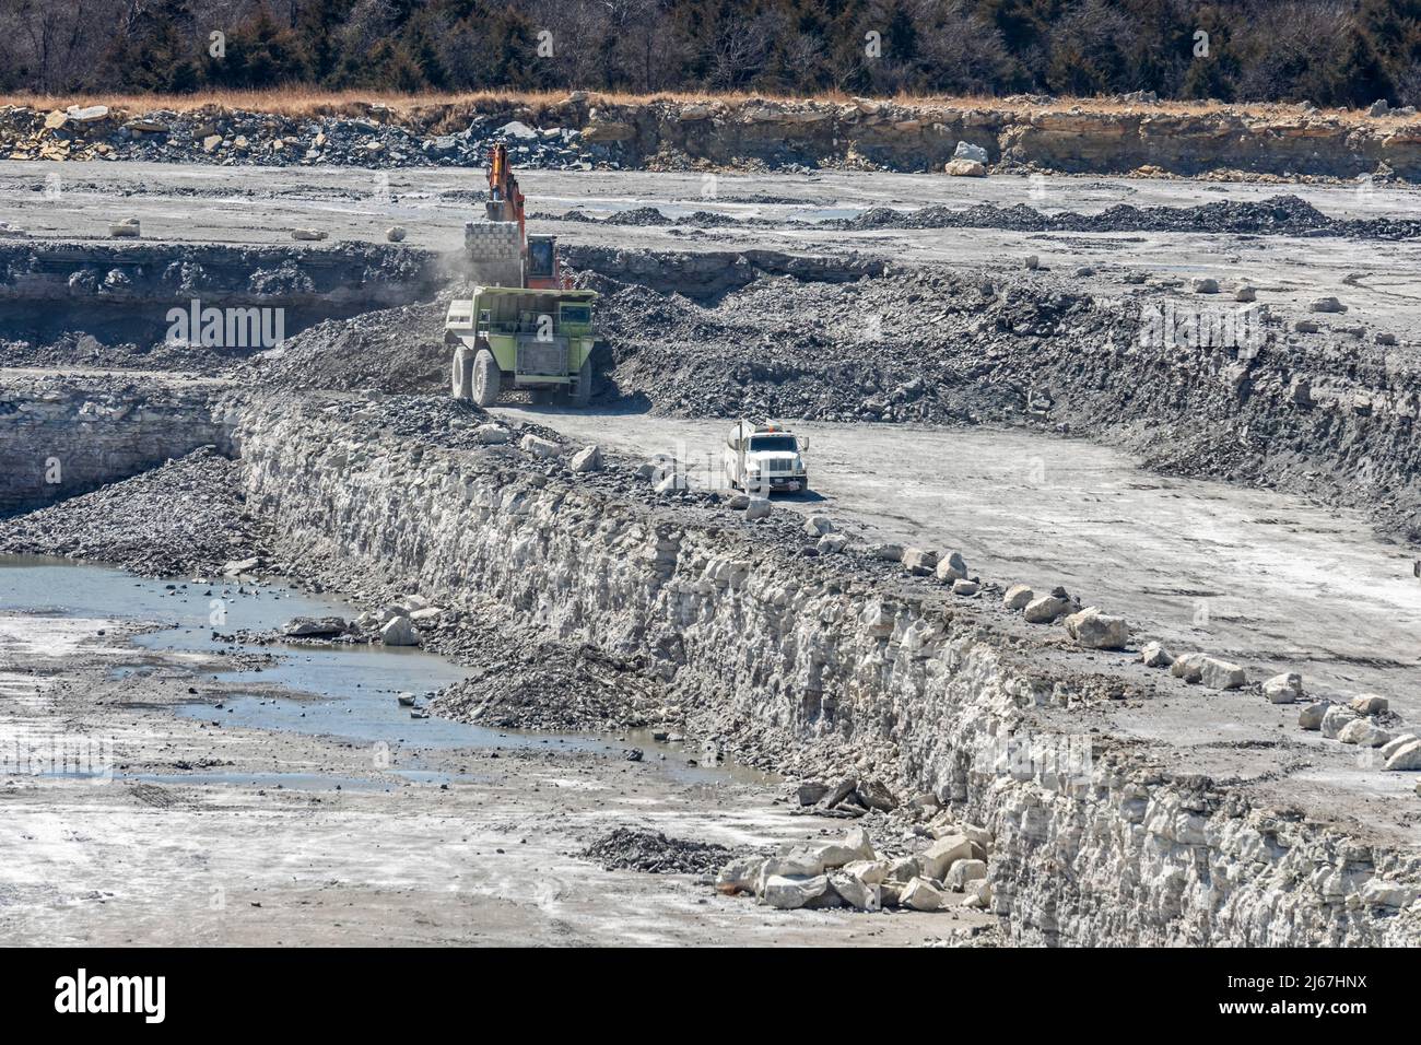
{"type": "Polygon", "coordinates": [[[266,522],[243,499],[240,466],[212,449],[0,519],[0,552],[111,563],[145,577],[220,574],[266,542],[266,522]]]}

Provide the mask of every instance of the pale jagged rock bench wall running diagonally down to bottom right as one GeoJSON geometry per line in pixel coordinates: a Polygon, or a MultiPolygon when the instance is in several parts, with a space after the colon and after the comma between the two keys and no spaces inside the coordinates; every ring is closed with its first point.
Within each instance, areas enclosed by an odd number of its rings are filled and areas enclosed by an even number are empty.
{"type": "Polygon", "coordinates": [[[253,401],[234,441],[286,545],[549,637],[641,654],[692,728],[809,775],[857,759],[996,836],[993,904],[1025,944],[1417,944],[1414,853],[1253,809],[1206,778],[1086,736],[1098,680],[1050,667],[990,614],[826,579],[736,516],[549,478],[513,448],[381,438],[369,418],[253,401]],[[1400,883],[1400,884],[1398,884],[1400,883]],[[1385,917],[1377,917],[1378,910],[1385,917]]]}

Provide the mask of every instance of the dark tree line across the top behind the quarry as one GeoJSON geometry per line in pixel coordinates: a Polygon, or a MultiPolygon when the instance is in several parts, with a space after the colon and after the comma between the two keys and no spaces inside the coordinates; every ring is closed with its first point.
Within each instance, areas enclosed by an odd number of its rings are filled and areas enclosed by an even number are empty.
{"type": "Polygon", "coordinates": [[[0,90],[1421,104],[1421,0],[6,0],[0,90]]]}

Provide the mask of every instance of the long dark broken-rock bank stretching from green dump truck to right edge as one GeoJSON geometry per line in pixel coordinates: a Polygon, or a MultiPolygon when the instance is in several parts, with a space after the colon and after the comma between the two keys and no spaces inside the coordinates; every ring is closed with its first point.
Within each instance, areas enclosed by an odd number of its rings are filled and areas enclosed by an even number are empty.
{"type": "MultiPolygon", "coordinates": [[[[1027,259],[1030,260],[1030,259],[1027,259]]],[[[601,280],[611,394],[682,417],[1046,427],[1120,441],[1161,471],[1279,486],[1421,536],[1421,373],[1388,331],[1283,323],[1256,294],[1118,273],[924,267],[831,284],[762,276],[708,301],[601,280]],[[1255,301],[1259,344],[1179,341],[1255,301]],[[811,321],[806,321],[811,317],[811,321]],[[1168,334],[1168,336],[1167,336],[1168,334]]],[[[1212,283],[1212,286],[1211,286],[1212,283]]],[[[1252,290],[1252,289],[1249,289],[1252,290]]]]}

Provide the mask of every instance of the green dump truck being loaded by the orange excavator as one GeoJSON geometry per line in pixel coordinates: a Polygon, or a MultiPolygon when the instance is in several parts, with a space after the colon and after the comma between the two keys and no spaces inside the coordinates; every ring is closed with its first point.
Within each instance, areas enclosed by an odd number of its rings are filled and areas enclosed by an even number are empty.
{"type": "Polygon", "coordinates": [[[453,300],[445,341],[453,347],[456,398],[492,407],[504,387],[566,392],[585,407],[593,391],[593,290],[475,287],[453,300]]]}

